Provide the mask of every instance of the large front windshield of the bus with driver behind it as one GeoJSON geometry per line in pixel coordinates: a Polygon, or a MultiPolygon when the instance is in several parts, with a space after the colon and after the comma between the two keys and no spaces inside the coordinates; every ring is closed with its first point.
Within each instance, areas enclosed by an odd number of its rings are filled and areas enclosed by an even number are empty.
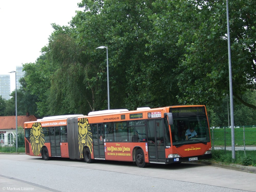
{"type": "Polygon", "coordinates": [[[206,116],[187,116],[173,119],[171,138],[174,146],[189,143],[210,142],[208,121],[206,116]]]}

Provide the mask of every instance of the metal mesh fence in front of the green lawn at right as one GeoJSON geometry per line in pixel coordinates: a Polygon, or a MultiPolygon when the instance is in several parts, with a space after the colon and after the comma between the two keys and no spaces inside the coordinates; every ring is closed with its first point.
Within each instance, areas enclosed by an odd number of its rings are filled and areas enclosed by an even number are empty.
{"type": "MultiPolygon", "coordinates": [[[[211,127],[212,149],[231,150],[231,128],[211,127]]],[[[234,127],[235,150],[256,151],[256,126],[234,127]]]]}

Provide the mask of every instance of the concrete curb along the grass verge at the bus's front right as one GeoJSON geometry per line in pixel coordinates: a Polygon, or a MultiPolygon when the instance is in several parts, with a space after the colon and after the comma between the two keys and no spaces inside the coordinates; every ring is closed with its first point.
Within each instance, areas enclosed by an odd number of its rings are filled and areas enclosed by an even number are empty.
{"type": "Polygon", "coordinates": [[[219,164],[219,163],[211,163],[211,162],[206,162],[206,161],[197,161],[196,163],[256,174],[256,167],[253,167],[253,166],[244,166],[244,165],[239,165],[239,164],[223,165],[223,164],[219,164]]]}

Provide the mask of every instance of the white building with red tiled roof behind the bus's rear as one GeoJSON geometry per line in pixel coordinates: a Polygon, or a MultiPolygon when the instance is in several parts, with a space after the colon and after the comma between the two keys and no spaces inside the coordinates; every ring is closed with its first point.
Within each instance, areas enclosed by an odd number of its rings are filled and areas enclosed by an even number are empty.
{"type": "MultiPolygon", "coordinates": [[[[24,122],[36,120],[35,115],[17,116],[17,125],[24,129],[24,122]]],[[[16,116],[0,116],[0,146],[12,145],[14,135],[16,135],[16,116]]]]}

